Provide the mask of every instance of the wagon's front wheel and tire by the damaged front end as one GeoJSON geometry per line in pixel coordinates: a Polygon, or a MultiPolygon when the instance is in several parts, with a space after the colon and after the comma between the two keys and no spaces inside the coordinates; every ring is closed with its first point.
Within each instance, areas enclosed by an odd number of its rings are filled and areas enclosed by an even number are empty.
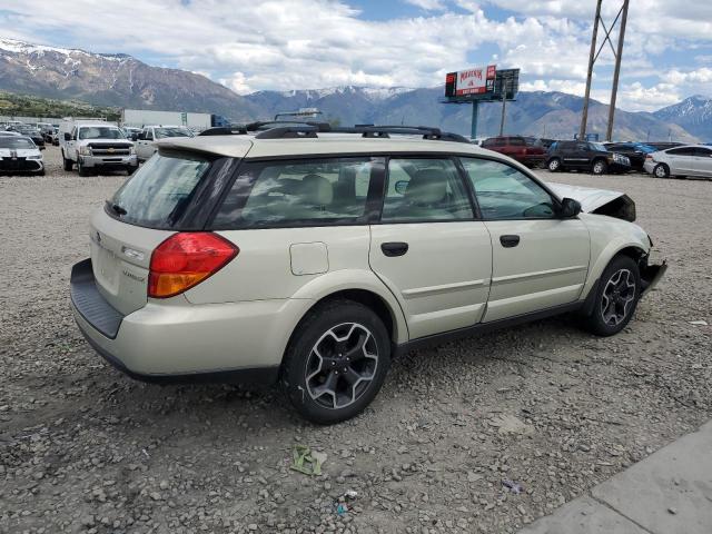
{"type": "MultiPolygon", "coordinates": [[[[621,280],[621,278],[619,278],[619,280],[621,280]]],[[[622,280],[622,283],[623,286],[626,286],[624,280],[622,280]]],[[[613,336],[625,328],[631,322],[641,296],[641,275],[635,260],[624,255],[615,256],[603,270],[595,291],[591,315],[584,318],[584,326],[589,332],[596,336],[613,336]],[[613,295],[611,295],[610,289],[616,286],[616,276],[626,270],[630,273],[629,281],[634,283],[635,287],[632,289],[626,287],[625,291],[613,291],[613,295]],[[629,296],[632,297],[632,300],[627,301],[625,305],[615,304],[615,300],[613,300],[614,298],[625,300],[629,296]],[[617,312],[621,312],[620,315],[622,315],[622,317],[616,316],[614,318],[606,318],[606,316],[610,315],[606,314],[606,312],[610,309],[609,305],[612,301],[616,308],[616,314],[617,312]]]]}

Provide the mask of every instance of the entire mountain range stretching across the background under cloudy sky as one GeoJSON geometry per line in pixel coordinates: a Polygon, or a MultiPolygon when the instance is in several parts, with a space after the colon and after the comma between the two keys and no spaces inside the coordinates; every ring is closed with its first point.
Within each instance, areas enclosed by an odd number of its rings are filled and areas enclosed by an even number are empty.
{"type": "MultiPolygon", "coordinates": [[[[237,95],[205,76],[152,67],[127,55],[31,44],[0,39],[0,90],[97,106],[212,112],[234,121],[319,108],[340,125],[431,125],[469,135],[471,106],[443,103],[443,88],[365,88],[258,91],[237,95]]],[[[479,108],[478,136],[500,130],[501,103],[479,108]]],[[[507,102],[505,132],[571,138],[578,130],[583,99],[563,92],[521,91],[507,102]]],[[[589,131],[605,131],[609,107],[592,101],[589,131]]],[[[712,99],[691,97],[653,113],[616,109],[614,137],[695,141],[712,138],[712,99]]]]}

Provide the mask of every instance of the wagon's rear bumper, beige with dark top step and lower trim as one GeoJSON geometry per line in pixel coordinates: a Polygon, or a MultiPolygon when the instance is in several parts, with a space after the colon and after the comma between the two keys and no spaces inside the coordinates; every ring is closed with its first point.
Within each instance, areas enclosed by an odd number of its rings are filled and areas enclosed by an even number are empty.
{"type": "Polygon", "coordinates": [[[91,260],[71,273],[75,320],[113,367],[151,383],[273,384],[284,346],[278,324],[291,300],[190,305],[182,296],[122,315],[96,287],[91,260]]]}

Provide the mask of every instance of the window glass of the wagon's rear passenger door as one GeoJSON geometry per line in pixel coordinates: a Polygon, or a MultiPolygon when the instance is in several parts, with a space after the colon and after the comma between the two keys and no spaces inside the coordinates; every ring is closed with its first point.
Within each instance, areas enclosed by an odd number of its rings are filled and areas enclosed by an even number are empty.
{"type": "Polygon", "coordinates": [[[451,159],[392,159],[382,220],[472,219],[473,210],[451,159]]]}

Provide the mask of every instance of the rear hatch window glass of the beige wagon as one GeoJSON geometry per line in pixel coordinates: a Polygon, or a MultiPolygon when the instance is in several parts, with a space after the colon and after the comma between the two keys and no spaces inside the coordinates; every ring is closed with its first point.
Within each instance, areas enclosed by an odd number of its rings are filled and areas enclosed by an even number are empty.
{"type": "Polygon", "coordinates": [[[210,162],[187,154],[154,156],[113,195],[107,210],[130,225],[175,229],[210,162]]]}

